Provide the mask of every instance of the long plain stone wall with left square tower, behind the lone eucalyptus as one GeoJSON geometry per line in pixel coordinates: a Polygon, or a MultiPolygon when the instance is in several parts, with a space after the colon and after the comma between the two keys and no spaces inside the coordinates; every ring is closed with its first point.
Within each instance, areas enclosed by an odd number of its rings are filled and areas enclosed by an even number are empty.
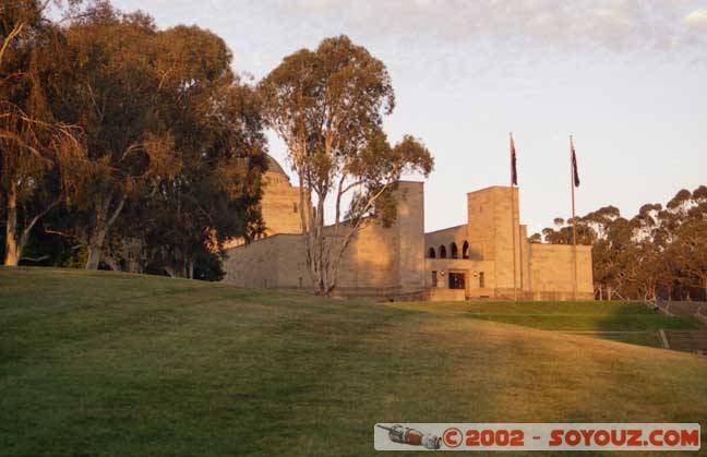
{"type": "MultiPolygon", "coordinates": [[[[391,227],[372,221],[354,236],[338,272],[344,296],[385,298],[424,290],[421,182],[402,182],[398,217],[391,227]]],[[[331,242],[347,230],[328,226],[331,242]]],[[[224,281],[244,287],[311,290],[301,234],[278,233],[227,251],[224,281]]]]}

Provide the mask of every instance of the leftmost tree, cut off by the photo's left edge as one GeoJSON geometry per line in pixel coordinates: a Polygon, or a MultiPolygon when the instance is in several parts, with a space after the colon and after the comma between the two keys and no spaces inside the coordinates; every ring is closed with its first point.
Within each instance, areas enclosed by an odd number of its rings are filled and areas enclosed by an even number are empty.
{"type": "Polygon", "coordinates": [[[0,15],[0,190],[5,206],[4,264],[16,265],[37,221],[70,192],[83,147],[80,132],[55,119],[68,73],[60,31],[47,3],[3,2],[0,15]],[[44,199],[39,197],[44,196],[44,199]]]}

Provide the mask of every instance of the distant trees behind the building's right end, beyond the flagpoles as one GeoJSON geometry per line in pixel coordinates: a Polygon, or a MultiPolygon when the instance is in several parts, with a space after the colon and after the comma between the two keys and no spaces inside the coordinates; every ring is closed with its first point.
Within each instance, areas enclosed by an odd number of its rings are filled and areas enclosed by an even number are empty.
{"type": "MultiPolygon", "coordinates": [[[[530,241],[571,244],[572,223],[556,218],[530,241]]],[[[707,300],[707,187],[643,205],[632,218],[606,206],[576,227],[577,243],[591,244],[597,299],[707,300]]]]}

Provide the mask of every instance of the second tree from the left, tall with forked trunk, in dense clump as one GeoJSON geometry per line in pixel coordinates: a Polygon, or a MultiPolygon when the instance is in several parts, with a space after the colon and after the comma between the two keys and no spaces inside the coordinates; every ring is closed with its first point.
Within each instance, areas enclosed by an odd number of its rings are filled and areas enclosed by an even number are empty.
{"type": "Polygon", "coordinates": [[[67,31],[76,81],[67,91],[63,116],[83,128],[87,143],[87,172],[74,202],[87,269],[98,267],[110,228],[140,185],[178,167],[173,137],[155,103],[156,34],[149,17],[122,14],[107,2],[67,31]]]}

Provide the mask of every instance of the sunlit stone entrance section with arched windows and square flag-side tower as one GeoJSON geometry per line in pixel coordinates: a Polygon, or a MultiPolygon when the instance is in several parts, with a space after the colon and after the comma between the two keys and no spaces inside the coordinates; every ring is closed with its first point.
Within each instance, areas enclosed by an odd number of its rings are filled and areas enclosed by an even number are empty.
{"type": "Polygon", "coordinates": [[[519,207],[518,188],[469,192],[467,224],[426,233],[431,300],[448,300],[448,289],[474,299],[594,299],[591,246],[528,242],[519,207]]]}

